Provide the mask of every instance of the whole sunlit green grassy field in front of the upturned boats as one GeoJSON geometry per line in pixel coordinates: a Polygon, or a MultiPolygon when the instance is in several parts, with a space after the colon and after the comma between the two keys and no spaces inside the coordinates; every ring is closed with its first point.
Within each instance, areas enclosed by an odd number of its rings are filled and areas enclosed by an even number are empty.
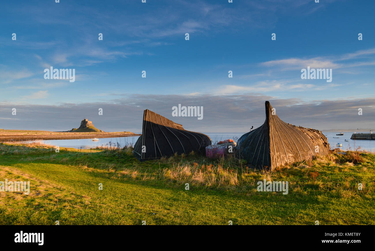
{"type": "Polygon", "coordinates": [[[271,173],[234,157],[139,162],[131,148],[0,143],[5,179],[30,181],[30,194],[0,192],[0,224],[375,224],[375,155],[366,153],[271,173]],[[289,193],[258,192],[263,179],[288,181],[289,193]]]}

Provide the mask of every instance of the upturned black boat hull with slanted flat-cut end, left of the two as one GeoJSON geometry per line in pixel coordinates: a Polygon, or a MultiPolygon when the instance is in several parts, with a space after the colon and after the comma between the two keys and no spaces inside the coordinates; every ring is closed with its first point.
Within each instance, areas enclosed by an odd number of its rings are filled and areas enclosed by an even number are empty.
{"type": "Polygon", "coordinates": [[[175,153],[202,152],[210,144],[207,135],[186,131],[182,125],[147,109],[143,114],[142,136],[135,143],[133,153],[139,160],[148,160],[175,153]]]}

